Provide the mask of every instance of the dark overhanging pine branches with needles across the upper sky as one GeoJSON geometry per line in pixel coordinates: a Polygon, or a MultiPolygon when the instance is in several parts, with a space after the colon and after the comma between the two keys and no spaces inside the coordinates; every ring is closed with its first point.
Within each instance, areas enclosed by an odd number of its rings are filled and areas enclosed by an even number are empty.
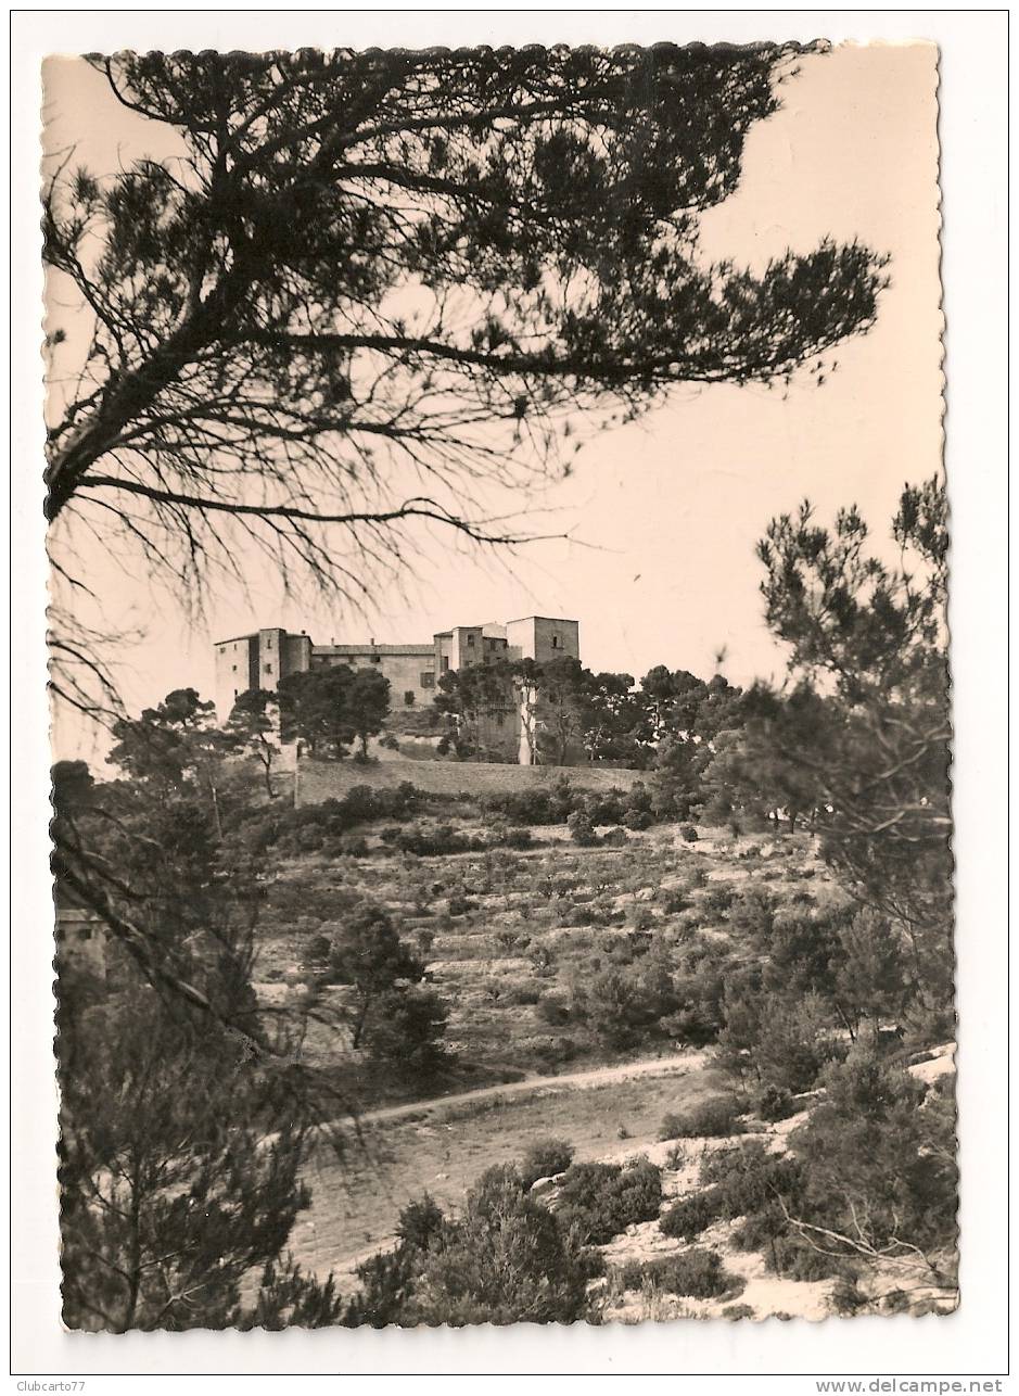
{"type": "MultiPolygon", "coordinates": [[[[752,274],[698,240],[801,52],[92,59],[180,154],[70,154],[46,186],[74,307],[50,324],[59,568],[81,579],[96,530],[194,600],[248,539],[356,599],[422,519],[528,536],[486,487],[561,469],[585,420],[782,380],[865,331],[874,251],[824,242],[752,274]]],[[[74,697],[94,656],[56,631],[74,697]]]]}

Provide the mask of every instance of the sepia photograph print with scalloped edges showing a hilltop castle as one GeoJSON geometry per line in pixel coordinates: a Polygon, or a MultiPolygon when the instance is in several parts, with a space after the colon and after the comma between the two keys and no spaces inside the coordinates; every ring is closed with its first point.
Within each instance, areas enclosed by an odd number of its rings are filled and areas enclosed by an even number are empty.
{"type": "Polygon", "coordinates": [[[768,18],[54,32],[64,1332],[965,1304],[939,49],[768,18]]]}

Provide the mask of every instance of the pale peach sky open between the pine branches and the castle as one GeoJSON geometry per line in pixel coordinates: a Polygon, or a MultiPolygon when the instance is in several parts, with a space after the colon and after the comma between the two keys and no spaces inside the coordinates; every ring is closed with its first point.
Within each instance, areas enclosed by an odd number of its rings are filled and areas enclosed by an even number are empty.
{"type": "MultiPolygon", "coordinates": [[[[600,433],[551,489],[556,528],[574,542],[496,561],[437,537],[403,595],[380,595],[367,621],[328,613],[314,596],[288,602],[254,558],[255,604],[208,595],[207,631],[193,631],[144,578],[120,581],[110,616],[145,631],[124,655],[128,706],[184,684],[211,694],[212,641],[272,624],[325,644],[398,642],[535,611],[577,618],[592,669],[639,677],[666,663],[708,676],[724,648],[736,683],[780,673],[754,558],[772,515],[810,497],[826,522],[856,503],[884,539],[903,483],[941,465],[935,70],[924,45],[804,59],[782,88],[782,110],[750,135],[737,194],[704,218],[705,251],[737,264],[808,251],[825,235],[891,254],[875,328],[839,346],[822,387],[804,377],[787,392],[680,388],[639,423],[600,433]]],[[[49,149],[77,141],[75,162],[106,170],[172,148],[166,128],[124,113],[84,63],[46,75],[49,149]]],[[[70,730],[57,737],[61,748],[74,740],[70,730]]]]}

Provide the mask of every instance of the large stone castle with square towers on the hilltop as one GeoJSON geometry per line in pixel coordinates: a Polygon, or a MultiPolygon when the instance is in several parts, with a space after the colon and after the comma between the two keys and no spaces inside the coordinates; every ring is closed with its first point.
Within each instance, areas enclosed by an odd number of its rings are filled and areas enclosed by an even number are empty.
{"type": "MultiPolygon", "coordinates": [[[[306,673],[321,664],[371,667],[389,680],[389,702],[401,708],[427,706],[436,697],[440,677],[448,670],[489,664],[500,659],[579,659],[579,625],[575,620],[551,616],[522,616],[504,625],[454,625],[430,641],[408,645],[314,644],[307,632],[290,634],[279,627],[221,639],[215,644],[215,702],[221,722],[248,688],[275,692],[288,674],[306,673]]],[[[507,687],[504,704],[493,706],[483,719],[483,743],[493,754],[516,758],[523,765],[533,759],[533,733],[528,740],[521,712],[526,704],[507,687]]]]}

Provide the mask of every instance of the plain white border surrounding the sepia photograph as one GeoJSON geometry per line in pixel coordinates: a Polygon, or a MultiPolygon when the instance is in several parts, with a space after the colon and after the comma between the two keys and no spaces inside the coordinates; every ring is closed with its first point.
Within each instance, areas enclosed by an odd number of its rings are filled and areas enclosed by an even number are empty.
{"type": "MultiPolygon", "coordinates": [[[[137,1390],[156,1374],[191,1390],[279,1388],[278,1375],[698,1374],[692,1390],[752,1381],[812,1392],[812,1376],[997,1375],[1005,1371],[1005,924],[1006,329],[1005,11],[21,11],[13,21],[13,577],[14,995],[17,1273],[13,1371],[27,1379],[89,1372],[85,1392],[137,1390]],[[941,46],[942,271],[952,507],[952,667],[959,916],[962,1308],[952,1318],[824,1323],[676,1323],[382,1333],[187,1333],[116,1339],[63,1333],[53,1202],[52,995],[46,874],[47,733],[45,564],[36,494],[42,392],[38,360],[38,71],[43,54],[110,47],[429,46],[521,42],[932,39],[941,46]],[[229,1375],[228,1375],[229,1374],[229,1375]],[[736,1374],[745,1374],[738,1376],[736,1374]],[[783,1374],[769,1376],[766,1374],[783,1374]],[[797,1378],[793,1374],[803,1374],[797,1378]]],[[[342,1379],[342,1378],[341,1378],[342,1379]]],[[[497,1378],[498,1379],[498,1378],[497,1378]]],[[[681,1376],[662,1375],[674,1390],[681,1376]]],[[[864,1389],[872,1378],[864,1379],[864,1389]]],[[[25,1389],[25,1388],[22,1388],[25,1389]]],[[[31,1389],[31,1388],[29,1388],[31,1389]]],[[[64,1388],[67,1389],[67,1388],[64,1388]]],[[[563,1379],[557,1379],[557,1392],[563,1379]]],[[[965,1389],[969,1389],[967,1386],[965,1389]]],[[[899,1386],[898,1390],[903,1390],[899,1386]]]]}

